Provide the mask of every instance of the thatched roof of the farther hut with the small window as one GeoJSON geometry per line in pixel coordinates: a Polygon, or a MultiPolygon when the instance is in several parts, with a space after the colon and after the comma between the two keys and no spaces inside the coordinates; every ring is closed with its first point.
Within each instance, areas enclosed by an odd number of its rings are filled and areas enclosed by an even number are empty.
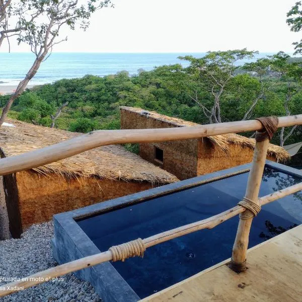
{"type": "MultiPolygon", "coordinates": [[[[147,111],[141,108],[122,106],[120,107],[120,109],[131,111],[146,116],[147,118],[160,120],[176,127],[188,127],[188,126],[190,127],[190,126],[199,125],[197,123],[185,121],[180,118],[166,116],[163,114],[159,114],[155,111],[147,111]]],[[[248,138],[235,133],[209,136],[208,139],[210,140],[210,142],[213,144],[213,147],[215,147],[218,152],[222,150],[225,153],[230,152],[230,146],[232,144],[237,144],[237,145],[254,149],[256,143],[254,138],[248,138]]],[[[268,147],[268,155],[274,157],[280,162],[285,162],[286,160],[290,159],[289,153],[284,148],[271,143],[269,144],[268,147]]]]}

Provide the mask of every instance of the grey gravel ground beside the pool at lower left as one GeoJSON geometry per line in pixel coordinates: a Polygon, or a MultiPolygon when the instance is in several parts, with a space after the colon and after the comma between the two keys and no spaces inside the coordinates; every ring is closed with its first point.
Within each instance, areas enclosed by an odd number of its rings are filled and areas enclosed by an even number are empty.
{"type": "MultiPolygon", "coordinates": [[[[26,277],[57,265],[52,258],[52,221],[32,225],[21,239],[0,241],[0,278],[26,277]]],[[[46,282],[13,293],[1,302],[100,302],[101,299],[89,282],[79,280],[72,274],[62,276],[63,281],[46,282]]],[[[0,285],[7,282],[3,281],[0,285]]]]}

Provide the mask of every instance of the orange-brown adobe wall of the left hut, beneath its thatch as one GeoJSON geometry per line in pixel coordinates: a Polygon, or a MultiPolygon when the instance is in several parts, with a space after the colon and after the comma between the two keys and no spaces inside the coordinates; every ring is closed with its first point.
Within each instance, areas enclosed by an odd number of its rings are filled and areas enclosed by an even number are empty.
{"type": "Polygon", "coordinates": [[[23,171],[7,177],[7,204],[14,238],[32,224],[49,221],[52,215],[152,188],[147,182],[100,180],[94,177],[66,179],[23,171]]]}

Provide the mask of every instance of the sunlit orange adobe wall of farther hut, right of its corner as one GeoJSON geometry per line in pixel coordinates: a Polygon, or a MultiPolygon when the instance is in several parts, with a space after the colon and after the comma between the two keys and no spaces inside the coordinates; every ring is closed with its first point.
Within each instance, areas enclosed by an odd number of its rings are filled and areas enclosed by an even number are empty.
{"type": "MultiPolygon", "coordinates": [[[[253,161],[254,150],[237,144],[230,145],[230,153],[226,154],[219,150],[215,151],[210,141],[199,141],[197,175],[204,175],[233,168],[239,165],[251,163],[253,161]]],[[[274,157],[267,157],[270,161],[276,161],[274,157]]]]}

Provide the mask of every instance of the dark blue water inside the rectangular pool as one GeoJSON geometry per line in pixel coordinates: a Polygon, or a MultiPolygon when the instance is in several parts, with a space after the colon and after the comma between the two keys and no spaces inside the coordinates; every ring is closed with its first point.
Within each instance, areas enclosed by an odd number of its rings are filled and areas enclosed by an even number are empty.
{"type": "MultiPolygon", "coordinates": [[[[245,194],[248,173],[232,176],[136,205],[78,221],[101,250],[146,238],[198,221],[235,206],[245,194]]],[[[265,168],[260,196],[301,179],[265,168]]],[[[184,280],[231,257],[238,216],[212,230],[202,230],[148,248],[143,259],[130,258],[112,265],[141,297],[184,280]]],[[[302,223],[302,193],[262,207],[253,220],[249,247],[302,223]]]]}

